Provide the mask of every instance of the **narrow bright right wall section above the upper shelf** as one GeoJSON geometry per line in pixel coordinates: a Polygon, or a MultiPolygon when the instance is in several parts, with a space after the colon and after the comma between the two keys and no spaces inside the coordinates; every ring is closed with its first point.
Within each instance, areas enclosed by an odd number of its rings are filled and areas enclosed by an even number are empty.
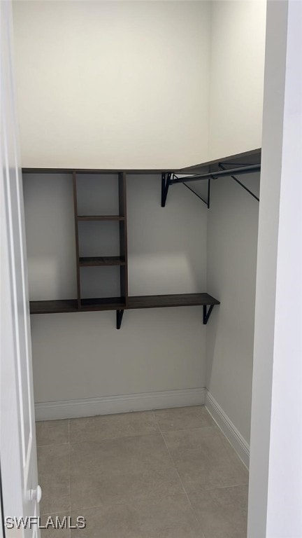
{"type": "Polygon", "coordinates": [[[266,1],[213,0],[211,15],[209,160],[261,147],[266,1]]]}

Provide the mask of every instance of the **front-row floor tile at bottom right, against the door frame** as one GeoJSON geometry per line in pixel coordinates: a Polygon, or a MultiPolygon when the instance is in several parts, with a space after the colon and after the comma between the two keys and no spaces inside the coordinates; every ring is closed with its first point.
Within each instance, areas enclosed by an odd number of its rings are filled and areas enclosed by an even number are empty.
{"type": "Polygon", "coordinates": [[[192,493],[205,538],[246,538],[247,485],[192,493]]]}

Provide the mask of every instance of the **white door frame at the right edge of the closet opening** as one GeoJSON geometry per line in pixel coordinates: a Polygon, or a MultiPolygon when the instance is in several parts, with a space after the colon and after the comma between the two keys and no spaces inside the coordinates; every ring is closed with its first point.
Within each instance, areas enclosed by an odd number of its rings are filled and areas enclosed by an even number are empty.
{"type": "Polygon", "coordinates": [[[302,538],[302,2],[268,0],[248,538],[302,538]]]}

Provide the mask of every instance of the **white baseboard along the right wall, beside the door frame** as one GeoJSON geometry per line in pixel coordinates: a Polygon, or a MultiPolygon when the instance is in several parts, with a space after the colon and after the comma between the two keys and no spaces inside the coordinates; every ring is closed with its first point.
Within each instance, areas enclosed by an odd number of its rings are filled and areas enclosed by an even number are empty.
{"type": "Polygon", "coordinates": [[[217,426],[220,427],[227,437],[229,443],[231,443],[231,446],[240,457],[240,460],[243,461],[248,469],[250,464],[250,445],[245,441],[240,432],[238,432],[236,426],[233,425],[233,422],[231,422],[219,403],[217,403],[208,390],[206,391],[206,408],[217,423],[217,426]]]}

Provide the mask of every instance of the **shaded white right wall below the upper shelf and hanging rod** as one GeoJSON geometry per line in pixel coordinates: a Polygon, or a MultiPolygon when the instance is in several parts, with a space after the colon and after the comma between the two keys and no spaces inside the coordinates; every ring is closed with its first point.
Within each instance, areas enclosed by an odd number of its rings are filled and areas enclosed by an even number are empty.
{"type": "MultiPolygon", "coordinates": [[[[259,195],[259,174],[242,181],[259,195]]],[[[221,305],[207,325],[206,387],[249,443],[259,202],[231,178],[211,183],[208,293],[221,305]]]]}

